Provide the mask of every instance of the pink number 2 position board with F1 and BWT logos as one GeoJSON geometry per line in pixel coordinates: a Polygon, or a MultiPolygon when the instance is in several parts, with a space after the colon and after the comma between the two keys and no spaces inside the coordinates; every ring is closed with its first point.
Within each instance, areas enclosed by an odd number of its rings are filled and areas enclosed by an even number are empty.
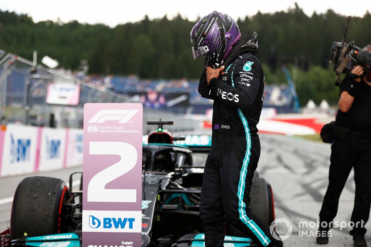
{"type": "Polygon", "coordinates": [[[82,247],[140,247],[142,124],[138,103],[84,105],[82,247]]]}

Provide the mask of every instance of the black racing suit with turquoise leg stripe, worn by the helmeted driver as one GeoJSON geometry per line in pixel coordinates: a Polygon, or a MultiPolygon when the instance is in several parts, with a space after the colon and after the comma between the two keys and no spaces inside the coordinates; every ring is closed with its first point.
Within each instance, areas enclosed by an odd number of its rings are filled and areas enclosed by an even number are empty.
{"type": "Polygon", "coordinates": [[[252,178],[260,156],[256,124],[263,89],[263,69],[249,53],[226,64],[224,75],[211,79],[209,85],[206,70],[201,74],[198,92],[214,100],[212,144],[200,202],[206,247],[223,247],[225,218],[258,246],[275,246],[269,229],[250,210],[252,178]]]}

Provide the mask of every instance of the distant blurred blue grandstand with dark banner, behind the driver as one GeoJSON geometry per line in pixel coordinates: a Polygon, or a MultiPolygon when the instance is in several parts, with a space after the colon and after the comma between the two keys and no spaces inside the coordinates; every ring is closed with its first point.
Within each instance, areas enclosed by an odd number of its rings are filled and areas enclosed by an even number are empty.
{"type": "MultiPolygon", "coordinates": [[[[175,113],[205,114],[207,109],[212,108],[213,101],[202,98],[198,93],[198,80],[142,80],[135,76],[114,76],[101,79],[101,84],[117,92],[131,97],[140,102],[144,107],[166,108],[175,113]],[[104,83],[106,81],[106,83],[104,83]],[[187,94],[188,101],[173,106],[165,102],[187,94]],[[151,104],[148,101],[161,101],[162,103],[151,104]]],[[[293,96],[289,86],[265,85],[263,107],[273,107],[278,113],[293,112],[293,96]]]]}

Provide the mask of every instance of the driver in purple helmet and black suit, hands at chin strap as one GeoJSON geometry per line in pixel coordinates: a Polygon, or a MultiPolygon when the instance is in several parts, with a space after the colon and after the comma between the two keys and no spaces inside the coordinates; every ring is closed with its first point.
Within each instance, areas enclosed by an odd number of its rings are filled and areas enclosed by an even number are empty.
{"type": "Polygon", "coordinates": [[[264,73],[254,56],[257,37],[240,40],[236,21],[216,11],[191,31],[193,56],[205,57],[198,92],[214,100],[212,144],[201,189],[206,247],[223,247],[226,221],[258,246],[279,247],[250,209],[252,178],[260,156],[256,124],[263,106],[264,73]]]}

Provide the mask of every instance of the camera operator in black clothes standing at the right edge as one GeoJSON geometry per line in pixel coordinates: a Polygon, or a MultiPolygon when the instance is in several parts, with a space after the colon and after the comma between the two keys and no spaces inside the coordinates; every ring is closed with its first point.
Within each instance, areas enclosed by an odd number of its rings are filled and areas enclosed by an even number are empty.
{"type": "MultiPolygon", "coordinates": [[[[371,46],[364,47],[364,50],[371,51],[371,46]]],[[[319,213],[319,231],[322,234],[316,239],[318,244],[328,243],[330,222],[336,216],[341,191],[354,167],[355,199],[351,221],[355,226],[350,234],[355,247],[367,247],[364,224],[368,221],[371,205],[371,83],[363,74],[363,67],[355,66],[339,86],[335,127],[345,127],[350,131],[331,146],[329,184],[319,213]]]]}

